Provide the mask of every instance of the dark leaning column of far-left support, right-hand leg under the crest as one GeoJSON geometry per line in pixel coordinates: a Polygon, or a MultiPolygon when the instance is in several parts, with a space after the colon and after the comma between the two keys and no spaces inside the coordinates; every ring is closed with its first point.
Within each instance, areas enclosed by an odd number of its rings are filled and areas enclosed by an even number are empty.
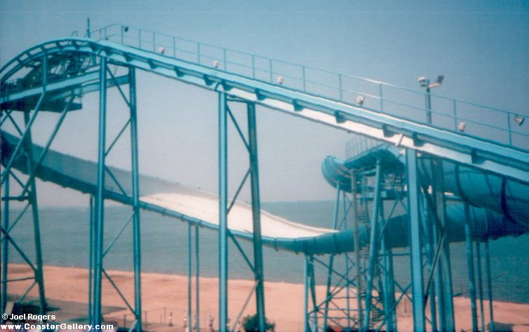
{"type": "MultiPolygon", "coordinates": [[[[46,57],[44,58],[46,59],[46,57]]],[[[46,60],[43,61],[43,70],[46,70],[46,60]]],[[[44,71],[46,72],[46,71],[44,71]]],[[[46,76],[46,75],[44,75],[46,76]]],[[[46,79],[43,79],[43,82],[46,83],[46,79]]],[[[35,109],[35,111],[38,111],[35,109]]],[[[41,245],[41,226],[39,221],[39,205],[36,200],[36,184],[35,177],[32,177],[34,173],[33,165],[33,142],[31,134],[31,125],[29,123],[29,112],[24,112],[24,122],[26,125],[26,139],[25,139],[25,149],[28,156],[27,162],[27,174],[29,174],[29,188],[31,190],[28,192],[29,202],[32,205],[32,216],[33,216],[33,234],[34,234],[34,243],[35,243],[35,260],[36,260],[36,270],[35,270],[35,282],[39,287],[39,302],[40,302],[40,312],[41,314],[46,314],[48,311],[48,305],[46,304],[46,295],[44,293],[44,275],[43,275],[43,263],[42,263],[42,245],[41,245]]],[[[4,240],[6,241],[6,240],[4,240]]]]}

